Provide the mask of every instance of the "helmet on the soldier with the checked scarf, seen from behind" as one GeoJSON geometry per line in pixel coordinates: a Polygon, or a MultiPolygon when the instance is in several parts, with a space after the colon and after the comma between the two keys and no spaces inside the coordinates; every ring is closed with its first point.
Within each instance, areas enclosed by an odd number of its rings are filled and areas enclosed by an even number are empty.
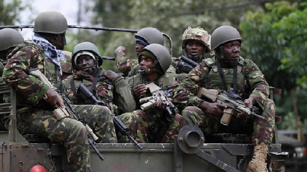
{"type": "Polygon", "coordinates": [[[67,20],[57,11],[41,12],[34,21],[33,32],[62,34],[68,30],[67,20]]]}

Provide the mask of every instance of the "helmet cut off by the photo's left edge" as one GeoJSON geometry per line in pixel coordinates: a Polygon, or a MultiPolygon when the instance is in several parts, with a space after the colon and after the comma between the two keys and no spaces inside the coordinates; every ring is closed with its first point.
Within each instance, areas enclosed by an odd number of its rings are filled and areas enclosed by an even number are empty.
{"type": "Polygon", "coordinates": [[[0,41],[0,51],[7,50],[24,42],[23,35],[11,28],[0,30],[0,39],[2,40],[0,41]]]}

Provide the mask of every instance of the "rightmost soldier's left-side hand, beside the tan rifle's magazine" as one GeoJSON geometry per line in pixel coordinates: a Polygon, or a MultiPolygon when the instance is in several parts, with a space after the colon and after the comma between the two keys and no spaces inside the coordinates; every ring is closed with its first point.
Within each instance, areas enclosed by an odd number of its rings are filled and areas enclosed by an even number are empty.
{"type": "Polygon", "coordinates": [[[202,110],[205,110],[209,115],[220,116],[223,110],[227,107],[219,103],[209,103],[209,102],[203,101],[199,105],[199,108],[202,110]]]}

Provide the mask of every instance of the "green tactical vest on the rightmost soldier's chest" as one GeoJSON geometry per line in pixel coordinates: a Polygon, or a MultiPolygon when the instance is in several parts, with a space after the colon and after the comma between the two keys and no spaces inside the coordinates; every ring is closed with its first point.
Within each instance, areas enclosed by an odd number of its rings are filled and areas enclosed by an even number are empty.
{"type": "MultiPolygon", "coordinates": [[[[204,59],[206,66],[209,68],[208,77],[205,81],[202,81],[203,87],[207,89],[222,89],[223,88],[223,81],[221,79],[220,73],[218,73],[217,65],[214,59],[204,59]]],[[[245,63],[244,58],[240,57],[238,64],[237,64],[237,94],[239,94],[243,99],[248,97],[249,92],[247,92],[247,80],[242,72],[242,67],[245,63]]],[[[222,68],[226,85],[229,88],[233,88],[233,76],[234,76],[234,69],[233,68],[222,68]]]]}

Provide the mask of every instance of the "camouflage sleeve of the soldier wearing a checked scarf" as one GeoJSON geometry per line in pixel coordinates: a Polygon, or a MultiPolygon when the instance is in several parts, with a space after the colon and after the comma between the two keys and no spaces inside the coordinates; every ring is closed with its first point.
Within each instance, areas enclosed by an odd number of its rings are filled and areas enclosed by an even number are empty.
{"type": "Polygon", "coordinates": [[[16,49],[11,53],[13,56],[8,57],[9,60],[3,71],[4,81],[14,86],[31,104],[36,105],[49,86],[36,77],[28,75],[26,71],[33,67],[43,70],[42,57],[40,52],[31,46],[16,49]]]}

